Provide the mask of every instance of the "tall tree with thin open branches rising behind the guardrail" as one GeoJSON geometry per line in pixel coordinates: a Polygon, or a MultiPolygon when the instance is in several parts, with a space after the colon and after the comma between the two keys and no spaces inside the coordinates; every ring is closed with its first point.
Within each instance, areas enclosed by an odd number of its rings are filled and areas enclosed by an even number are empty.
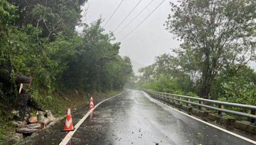
{"type": "Polygon", "coordinates": [[[239,71],[255,57],[256,1],[182,0],[172,4],[168,31],[184,41],[180,53],[198,69],[200,96],[208,98],[216,75],[226,66],[239,71]]]}

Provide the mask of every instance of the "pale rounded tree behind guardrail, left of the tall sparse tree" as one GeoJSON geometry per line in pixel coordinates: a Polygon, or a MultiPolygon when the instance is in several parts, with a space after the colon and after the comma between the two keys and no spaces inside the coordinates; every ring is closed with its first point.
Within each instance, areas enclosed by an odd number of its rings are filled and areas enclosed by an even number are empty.
{"type": "Polygon", "coordinates": [[[170,54],[156,57],[151,66],[143,67],[138,84],[159,92],[189,93],[194,91],[194,83],[182,67],[182,62],[170,54]]]}

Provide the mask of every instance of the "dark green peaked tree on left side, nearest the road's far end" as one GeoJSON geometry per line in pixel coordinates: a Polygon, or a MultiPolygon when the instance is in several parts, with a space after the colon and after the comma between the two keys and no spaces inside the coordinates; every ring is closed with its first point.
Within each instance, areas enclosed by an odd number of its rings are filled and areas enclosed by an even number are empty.
{"type": "Polygon", "coordinates": [[[86,26],[81,33],[81,46],[62,77],[69,87],[89,91],[120,89],[132,73],[130,59],[118,55],[120,44],[111,43],[113,34],[104,34],[100,23],[98,20],[86,26]]]}

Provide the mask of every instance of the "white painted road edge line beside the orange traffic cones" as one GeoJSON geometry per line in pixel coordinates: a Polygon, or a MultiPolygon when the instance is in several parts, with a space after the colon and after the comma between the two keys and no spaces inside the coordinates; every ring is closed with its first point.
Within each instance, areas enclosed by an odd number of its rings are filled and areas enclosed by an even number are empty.
{"type": "MultiPolygon", "coordinates": [[[[122,92],[122,93],[124,93],[124,92],[122,92]]],[[[113,97],[121,95],[122,93],[118,93],[117,95],[114,95],[113,97]]],[[[109,99],[112,99],[113,97],[110,97],[109,99]]],[[[106,99],[106,100],[109,100],[109,99],[106,99]]],[[[93,109],[90,109],[90,111],[88,111],[88,113],[86,113],[83,116],[83,118],[81,120],[79,120],[79,122],[76,123],[76,125],[74,127],[75,128],[74,131],[68,132],[68,134],[64,137],[64,139],[60,142],[59,145],[66,145],[68,143],[68,141],[71,139],[71,137],[75,134],[76,130],[80,127],[80,125],[84,122],[84,120],[86,120],[86,118],[90,115],[90,113],[92,113],[92,111],[94,109],[96,109],[96,107],[98,107],[100,104],[102,104],[102,102],[105,102],[106,100],[102,100],[97,105],[95,105],[93,109]]]]}

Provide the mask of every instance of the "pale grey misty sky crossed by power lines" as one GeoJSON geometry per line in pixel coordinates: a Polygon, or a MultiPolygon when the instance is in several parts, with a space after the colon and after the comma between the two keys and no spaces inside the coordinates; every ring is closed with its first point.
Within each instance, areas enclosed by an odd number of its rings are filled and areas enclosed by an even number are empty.
{"type": "MultiPolygon", "coordinates": [[[[85,6],[86,8],[89,6],[86,14],[86,22],[91,23],[102,17],[104,25],[120,1],[121,0],[88,0],[88,3],[85,6]]],[[[138,1],[139,0],[124,0],[104,29],[106,29],[106,31],[115,30],[118,24],[124,20],[138,1]]],[[[151,0],[142,0],[116,32],[128,24],[150,1],[151,0]]],[[[140,22],[147,17],[159,3],[161,3],[161,0],[154,0],[153,3],[150,4],[150,6],[148,6],[131,25],[129,25],[129,27],[116,36],[117,41],[131,32],[136,25],[140,24],[140,22]]],[[[140,25],[140,27],[138,27],[138,29],[121,41],[120,55],[129,56],[135,65],[141,64],[143,66],[148,66],[154,62],[157,55],[171,52],[170,48],[177,48],[179,46],[179,41],[173,39],[173,36],[166,31],[165,26],[163,25],[170,13],[169,3],[170,0],[165,0],[164,3],[161,4],[161,6],[159,6],[159,8],[157,8],[157,10],[140,25]]]]}

